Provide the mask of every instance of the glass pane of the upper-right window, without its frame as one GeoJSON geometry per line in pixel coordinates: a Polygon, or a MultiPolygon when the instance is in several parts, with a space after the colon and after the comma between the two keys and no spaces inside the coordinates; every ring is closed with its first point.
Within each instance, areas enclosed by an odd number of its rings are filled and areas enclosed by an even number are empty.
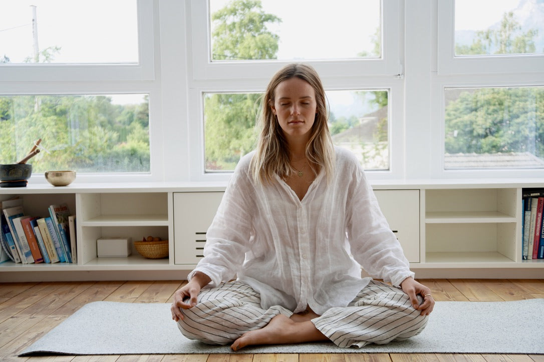
{"type": "Polygon", "coordinates": [[[544,3],[455,0],[455,55],[543,54],[544,3]]]}

